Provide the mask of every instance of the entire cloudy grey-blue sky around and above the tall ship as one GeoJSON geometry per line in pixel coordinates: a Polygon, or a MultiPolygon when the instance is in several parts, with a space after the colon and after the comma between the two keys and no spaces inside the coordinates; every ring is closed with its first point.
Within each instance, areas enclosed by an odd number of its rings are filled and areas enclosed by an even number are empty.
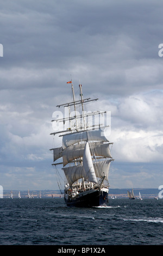
{"type": "Polygon", "coordinates": [[[75,93],[80,81],[84,97],[99,98],[94,110],[111,111],[110,187],[162,185],[162,2],[1,0],[0,6],[3,189],[58,189],[49,133],[55,106],[70,100],[71,76],[75,93]]]}

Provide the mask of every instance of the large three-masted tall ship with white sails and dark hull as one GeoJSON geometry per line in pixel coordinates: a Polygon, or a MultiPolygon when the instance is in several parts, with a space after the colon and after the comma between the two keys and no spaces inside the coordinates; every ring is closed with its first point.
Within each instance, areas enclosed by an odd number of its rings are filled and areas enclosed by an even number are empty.
{"type": "Polygon", "coordinates": [[[82,84],[79,84],[79,100],[76,100],[72,81],[67,83],[72,89],[72,100],[57,107],[67,108],[68,114],[52,120],[55,127],[59,123],[64,124],[64,129],[53,129],[55,132],[51,133],[54,142],[55,136],[61,137],[61,147],[50,149],[53,152],[52,165],[57,173],[64,170],[64,200],[67,206],[106,206],[109,167],[114,160],[110,153],[113,143],[109,141],[107,112],[85,111],[88,103],[98,99],[84,99],[82,84]]]}

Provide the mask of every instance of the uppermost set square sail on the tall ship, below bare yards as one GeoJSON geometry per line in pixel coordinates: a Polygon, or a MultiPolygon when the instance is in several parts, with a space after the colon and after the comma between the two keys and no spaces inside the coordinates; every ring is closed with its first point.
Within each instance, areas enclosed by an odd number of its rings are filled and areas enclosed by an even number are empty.
{"type": "Polygon", "coordinates": [[[77,142],[82,141],[109,141],[109,129],[99,129],[92,131],[84,131],[78,133],[70,133],[68,135],[64,135],[62,138],[62,148],[65,149],[68,146],[71,146],[77,142]],[[108,133],[108,134],[107,134],[108,133]]]}

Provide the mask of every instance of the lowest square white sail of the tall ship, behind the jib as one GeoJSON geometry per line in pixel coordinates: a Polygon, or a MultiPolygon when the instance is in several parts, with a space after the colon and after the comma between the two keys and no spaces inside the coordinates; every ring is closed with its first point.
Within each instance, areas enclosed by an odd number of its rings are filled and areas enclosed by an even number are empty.
{"type": "MultiPolygon", "coordinates": [[[[108,180],[109,167],[111,161],[112,160],[110,159],[93,163],[93,168],[98,178],[102,178],[105,175],[105,180],[108,180]]],[[[70,184],[70,186],[78,179],[86,179],[85,170],[82,164],[79,166],[64,167],[63,170],[65,172],[67,181],[70,184]]]]}

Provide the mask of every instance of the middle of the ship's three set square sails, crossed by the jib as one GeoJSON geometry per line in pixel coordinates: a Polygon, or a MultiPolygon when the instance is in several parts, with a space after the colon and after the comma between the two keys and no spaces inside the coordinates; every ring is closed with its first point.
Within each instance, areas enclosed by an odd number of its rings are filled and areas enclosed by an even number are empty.
{"type": "MultiPolygon", "coordinates": [[[[94,143],[89,143],[89,145],[90,145],[90,153],[92,156],[95,155],[95,156],[112,158],[110,154],[109,143],[102,144],[102,142],[94,142],[94,143]]],[[[83,157],[84,148],[85,148],[85,144],[77,144],[77,145],[71,145],[70,147],[64,149],[64,151],[62,152],[64,166],[67,163],[73,161],[74,159],[83,157]]]]}

